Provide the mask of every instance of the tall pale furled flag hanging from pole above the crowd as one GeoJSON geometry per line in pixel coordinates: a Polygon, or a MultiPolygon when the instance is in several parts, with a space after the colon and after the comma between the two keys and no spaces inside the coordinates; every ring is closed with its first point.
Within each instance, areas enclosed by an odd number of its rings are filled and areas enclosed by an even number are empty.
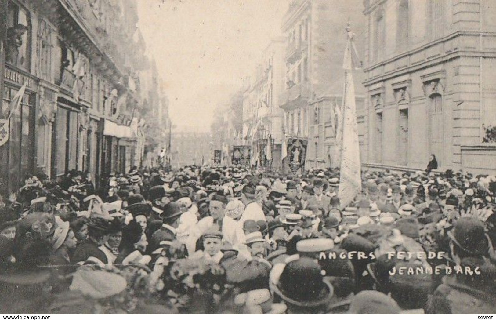
{"type": "Polygon", "coordinates": [[[343,68],[345,84],[343,108],[341,110],[341,171],[339,181],[339,199],[342,207],[348,206],[362,189],[360,171],[360,145],[358,140],[358,125],[355,105],[355,88],[353,84],[353,34],[347,26],[348,43],[345,50],[343,68]]]}

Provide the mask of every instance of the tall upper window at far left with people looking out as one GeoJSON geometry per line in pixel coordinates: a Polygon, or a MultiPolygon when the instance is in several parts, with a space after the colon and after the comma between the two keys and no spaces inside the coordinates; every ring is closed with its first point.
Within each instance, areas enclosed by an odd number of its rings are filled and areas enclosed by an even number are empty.
{"type": "Polygon", "coordinates": [[[31,48],[31,20],[29,12],[12,1],[7,3],[7,39],[5,61],[29,70],[31,48]]]}

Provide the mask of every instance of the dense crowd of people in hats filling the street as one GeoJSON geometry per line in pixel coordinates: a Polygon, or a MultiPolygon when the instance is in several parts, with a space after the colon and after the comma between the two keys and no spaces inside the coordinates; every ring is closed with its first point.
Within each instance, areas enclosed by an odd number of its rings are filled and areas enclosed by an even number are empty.
{"type": "Polygon", "coordinates": [[[496,313],[496,177],[132,168],[0,202],[2,313],[496,313]]]}

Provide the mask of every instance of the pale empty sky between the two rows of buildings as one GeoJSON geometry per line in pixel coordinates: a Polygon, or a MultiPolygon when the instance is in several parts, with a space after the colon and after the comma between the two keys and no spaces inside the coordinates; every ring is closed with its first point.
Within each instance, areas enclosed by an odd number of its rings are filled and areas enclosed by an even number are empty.
{"type": "Polygon", "coordinates": [[[289,0],[136,0],[147,50],[157,62],[178,128],[210,131],[229,101],[281,35],[289,0]]]}

